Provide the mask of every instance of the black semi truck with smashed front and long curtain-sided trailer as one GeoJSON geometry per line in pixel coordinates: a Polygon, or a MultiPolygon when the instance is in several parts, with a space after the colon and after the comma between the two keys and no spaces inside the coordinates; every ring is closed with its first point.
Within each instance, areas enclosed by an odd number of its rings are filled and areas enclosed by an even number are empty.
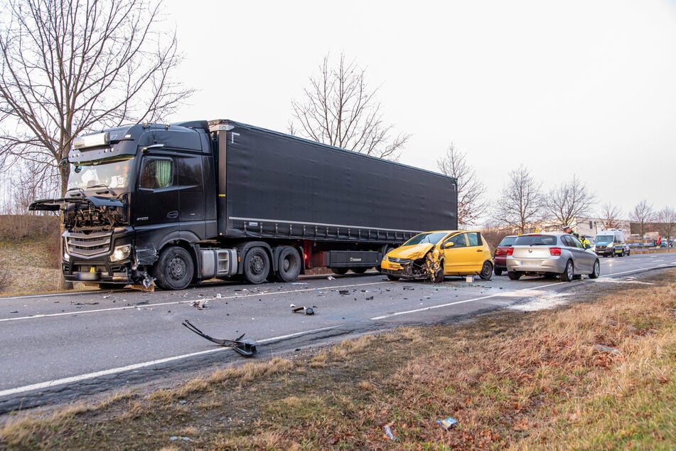
{"type": "Polygon", "coordinates": [[[62,164],[65,196],[30,209],[62,211],[65,280],[103,288],[365,272],[458,225],[454,178],[231,120],[85,134],[62,164]]]}

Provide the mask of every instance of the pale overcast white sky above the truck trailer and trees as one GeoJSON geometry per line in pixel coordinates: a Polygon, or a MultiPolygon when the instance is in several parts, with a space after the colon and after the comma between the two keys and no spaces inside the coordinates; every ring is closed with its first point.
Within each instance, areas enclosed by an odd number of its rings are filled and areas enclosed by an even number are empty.
{"type": "Polygon", "coordinates": [[[574,175],[624,216],[676,207],[676,1],[165,0],[198,89],[171,122],[287,132],[324,55],[366,69],[399,161],[438,171],[452,143],[497,199],[525,164],[574,175]]]}

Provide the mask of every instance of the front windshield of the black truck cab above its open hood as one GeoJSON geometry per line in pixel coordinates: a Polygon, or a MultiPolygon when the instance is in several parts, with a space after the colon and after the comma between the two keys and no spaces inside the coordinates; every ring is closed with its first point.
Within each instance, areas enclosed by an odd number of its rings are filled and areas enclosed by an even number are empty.
{"type": "Polygon", "coordinates": [[[93,188],[127,188],[132,159],[97,162],[97,164],[70,165],[68,189],[93,188]]]}

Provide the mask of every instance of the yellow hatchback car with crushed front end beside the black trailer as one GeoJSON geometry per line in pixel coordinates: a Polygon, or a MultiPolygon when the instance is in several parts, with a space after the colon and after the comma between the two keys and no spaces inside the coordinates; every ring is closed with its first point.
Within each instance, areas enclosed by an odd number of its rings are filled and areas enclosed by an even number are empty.
{"type": "Polygon", "coordinates": [[[390,280],[443,282],[447,275],[478,275],[489,280],[493,258],[478,230],[436,230],[419,233],[390,250],[380,267],[390,280]]]}

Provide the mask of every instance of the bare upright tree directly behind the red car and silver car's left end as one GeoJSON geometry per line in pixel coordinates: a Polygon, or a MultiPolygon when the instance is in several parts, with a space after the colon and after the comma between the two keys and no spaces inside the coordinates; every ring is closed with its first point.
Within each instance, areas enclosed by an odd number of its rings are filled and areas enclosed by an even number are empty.
{"type": "Polygon", "coordinates": [[[537,183],[523,165],[511,171],[509,177],[493,214],[498,221],[525,233],[529,224],[539,220],[542,215],[542,183],[537,183]]]}

